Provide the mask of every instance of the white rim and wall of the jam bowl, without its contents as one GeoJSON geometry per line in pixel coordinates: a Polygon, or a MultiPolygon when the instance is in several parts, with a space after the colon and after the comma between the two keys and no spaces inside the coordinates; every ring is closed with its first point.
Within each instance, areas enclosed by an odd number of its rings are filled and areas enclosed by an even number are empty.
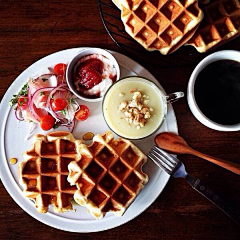
{"type": "Polygon", "coordinates": [[[107,50],[101,49],[101,48],[88,48],[86,50],[83,50],[81,52],[79,52],[68,64],[67,66],[67,70],[66,70],[66,81],[68,84],[68,87],[70,88],[71,92],[77,96],[78,98],[87,101],[87,102],[100,102],[103,100],[103,96],[99,97],[99,98],[87,98],[86,96],[83,96],[81,94],[79,94],[78,91],[76,91],[76,86],[73,83],[73,69],[74,66],[77,64],[78,60],[87,56],[87,55],[91,55],[91,54],[99,54],[99,55],[103,55],[104,57],[108,58],[112,63],[113,66],[116,69],[117,72],[117,77],[116,77],[116,81],[119,80],[120,78],[120,68],[119,65],[117,63],[117,60],[113,57],[113,55],[111,53],[109,53],[107,50]]]}

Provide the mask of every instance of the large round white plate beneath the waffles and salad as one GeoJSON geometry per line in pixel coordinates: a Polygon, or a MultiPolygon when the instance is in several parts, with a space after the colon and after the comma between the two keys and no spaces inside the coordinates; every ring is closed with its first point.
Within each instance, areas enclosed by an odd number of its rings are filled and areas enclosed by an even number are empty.
{"type": "MultiPolygon", "coordinates": [[[[65,231],[98,232],[124,224],[148,208],[163,191],[169,180],[169,175],[155,166],[153,162],[148,160],[148,162],[144,165],[143,170],[148,174],[149,182],[140,192],[136,200],[130,205],[125,214],[122,217],[116,217],[113,213],[107,213],[103,219],[96,220],[84,207],[76,204],[74,204],[76,212],[71,211],[68,213],[55,213],[53,212],[52,207],[50,207],[48,213],[38,213],[35,209],[33,201],[24,197],[22,194],[22,187],[19,185],[18,181],[18,164],[11,165],[9,163],[9,159],[13,157],[18,159],[18,163],[23,161],[22,153],[28,150],[32,145],[32,138],[28,141],[24,140],[29,124],[27,122],[18,122],[15,118],[13,108],[10,108],[9,106],[9,100],[12,98],[12,95],[19,92],[29,77],[34,76],[37,72],[43,71],[43,69],[46,69],[47,67],[53,67],[59,62],[68,63],[74,55],[82,49],[83,48],[74,48],[64,50],[42,58],[22,72],[9,87],[0,105],[0,176],[5,188],[16,203],[37,220],[65,231]]],[[[120,53],[111,53],[120,65],[121,77],[139,75],[153,80],[163,90],[153,75],[151,75],[141,65],[120,53]]],[[[86,121],[78,122],[76,124],[73,131],[76,138],[81,138],[86,132],[102,134],[108,130],[102,116],[101,102],[88,103],[80,101],[80,103],[89,107],[91,115],[86,121]]],[[[163,131],[177,133],[176,118],[171,105],[169,105],[168,108],[167,118],[158,132],[163,131]]],[[[34,133],[46,132],[43,132],[38,126],[34,133]]],[[[145,154],[147,154],[154,145],[154,136],[141,141],[134,141],[134,143],[145,154]]]]}

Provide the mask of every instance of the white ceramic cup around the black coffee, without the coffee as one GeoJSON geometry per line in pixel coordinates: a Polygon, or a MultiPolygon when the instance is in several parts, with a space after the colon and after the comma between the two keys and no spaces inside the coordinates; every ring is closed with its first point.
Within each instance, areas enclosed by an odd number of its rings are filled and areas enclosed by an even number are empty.
{"type": "Polygon", "coordinates": [[[218,131],[240,131],[240,123],[234,125],[222,125],[212,121],[211,119],[207,118],[199,109],[195,96],[194,96],[194,85],[198,74],[210,63],[216,62],[219,60],[235,60],[237,62],[240,61],[240,52],[233,51],[233,50],[223,50],[219,52],[215,52],[206,58],[204,58],[194,69],[190,80],[188,82],[188,90],[187,90],[187,100],[190,110],[192,111],[193,115],[197,118],[199,122],[203,125],[218,131]]]}

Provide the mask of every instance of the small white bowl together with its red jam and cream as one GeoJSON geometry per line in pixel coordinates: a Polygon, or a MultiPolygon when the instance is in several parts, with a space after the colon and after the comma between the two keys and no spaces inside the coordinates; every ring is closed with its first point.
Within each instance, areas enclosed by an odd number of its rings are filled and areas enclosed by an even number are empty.
{"type": "Polygon", "coordinates": [[[107,89],[119,79],[120,69],[108,51],[89,48],[81,51],[68,64],[66,79],[71,91],[80,99],[98,102],[107,89]]]}

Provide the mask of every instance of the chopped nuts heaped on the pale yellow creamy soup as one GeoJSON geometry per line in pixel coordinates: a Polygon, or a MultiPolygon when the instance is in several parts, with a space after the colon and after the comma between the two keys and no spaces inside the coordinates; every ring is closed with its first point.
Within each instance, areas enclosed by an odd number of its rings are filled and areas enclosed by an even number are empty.
{"type": "MultiPolygon", "coordinates": [[[[133,93],[132,100],[122,101],[119,105],[119,111],[124,113],[124,119],[128,122],[128,125],[131,124],[136,126],[136,129],[143,128],[146,125],[148,119],[151,118],[150,111],[153,111],[153,108],[149,108],[147,103],[150,100],[144,100],[148,98],[146,95],[142,95],[141,92],[136,89],[132,89],[130,93],[133,93]]],[[[123,117],[121,117],[122,119],[123,117]]]]}

